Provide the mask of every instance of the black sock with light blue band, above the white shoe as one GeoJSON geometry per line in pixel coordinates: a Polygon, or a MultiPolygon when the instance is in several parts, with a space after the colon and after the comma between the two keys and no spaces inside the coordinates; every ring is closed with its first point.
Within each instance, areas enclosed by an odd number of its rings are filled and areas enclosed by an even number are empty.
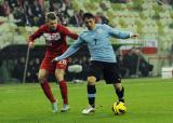
{"type": "Polygon", "coordinates": [[[89,99],[89,104],[92,107],[95,107],[95,93],[96,93],[95,85],[88,84],[88,99],[89,99]]]}

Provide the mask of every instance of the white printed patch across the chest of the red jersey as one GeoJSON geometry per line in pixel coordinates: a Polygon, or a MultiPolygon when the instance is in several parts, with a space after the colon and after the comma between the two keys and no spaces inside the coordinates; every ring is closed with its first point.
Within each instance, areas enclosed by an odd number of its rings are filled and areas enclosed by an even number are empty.
{"type": "Polygon", "coordinates": [[[46,41],[57,41],[61,39],[61,35],[58,32],[55,33],[43,33],[43,37],[46,41]]]}

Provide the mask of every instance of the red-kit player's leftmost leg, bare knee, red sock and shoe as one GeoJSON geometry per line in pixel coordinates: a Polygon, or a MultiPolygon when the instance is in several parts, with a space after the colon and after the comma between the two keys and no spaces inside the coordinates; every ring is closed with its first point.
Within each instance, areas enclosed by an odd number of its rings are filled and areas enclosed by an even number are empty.
{"type": "Polygon", "coordinates": [[[51,91],[51,87],[50,87],[50,84],[46,80],[49,76],[49,71],[45,70],[45,69],[40,69],[39,70],[39,76],[38,76],[38,79],[39,79],[39,82],[40,82],[40,85],[41,85],[41,88],[42,91],[44,92],[44,95],[46,96],[46,98],[51,101],[52,104],[52,109],[53,109],[53,112],[57,112],[57,104],[56,104],[56,100],[52,94],[52,91],[51,91]]]}

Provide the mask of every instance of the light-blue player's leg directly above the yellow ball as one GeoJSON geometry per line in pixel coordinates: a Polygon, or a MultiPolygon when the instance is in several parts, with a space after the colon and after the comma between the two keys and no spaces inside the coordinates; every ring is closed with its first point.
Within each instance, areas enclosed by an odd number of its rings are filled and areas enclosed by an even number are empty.
{"type": "Polygon", "coordinates": [[[107,84],[112,84],[118,96],[119,101],[124,102],[124,87],[121,84],[121,77],[119,76],[119,66],[117,64],[107,64],[104,68],[104,79],[107,84]]]}

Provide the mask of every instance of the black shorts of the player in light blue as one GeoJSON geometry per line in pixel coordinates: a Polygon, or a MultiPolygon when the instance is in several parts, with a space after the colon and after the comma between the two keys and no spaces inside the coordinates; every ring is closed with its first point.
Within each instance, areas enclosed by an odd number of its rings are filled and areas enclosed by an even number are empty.
{"type": "Polygon", "coordinates": [[[89,77],[90,76],[94,76],[96,78],[96,81],[99,81],[101,76],[103,76],[107,84],[121,83],[119,66],[117,65],[117,63],[92,60],[89,71],[89,77]]]}

